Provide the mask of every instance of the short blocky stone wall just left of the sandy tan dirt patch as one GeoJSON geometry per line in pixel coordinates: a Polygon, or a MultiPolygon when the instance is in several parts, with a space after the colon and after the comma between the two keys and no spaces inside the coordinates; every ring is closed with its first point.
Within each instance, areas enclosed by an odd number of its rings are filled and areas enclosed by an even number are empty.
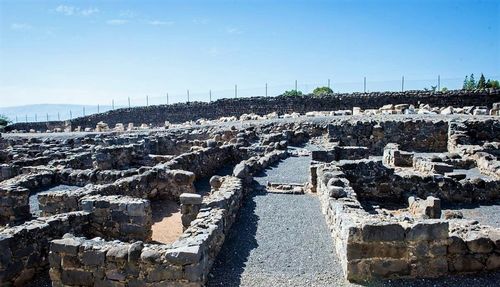
{"type": "Polygon", "coordinates": [[[149,200],[93,195],[82,198],[79,204],[91,214],[89,235],[125,242],[151,240],[153,219],[149,200]]]}

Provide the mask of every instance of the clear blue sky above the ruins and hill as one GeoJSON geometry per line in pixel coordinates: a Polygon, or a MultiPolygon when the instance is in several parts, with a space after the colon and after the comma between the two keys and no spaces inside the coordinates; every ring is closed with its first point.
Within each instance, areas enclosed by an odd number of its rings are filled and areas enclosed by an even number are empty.
{"type": "Polygon", "coordinates": [[[500,75],[499,29],[500,1],[2,0],[0,106],[459,83],[500,75]]]}

